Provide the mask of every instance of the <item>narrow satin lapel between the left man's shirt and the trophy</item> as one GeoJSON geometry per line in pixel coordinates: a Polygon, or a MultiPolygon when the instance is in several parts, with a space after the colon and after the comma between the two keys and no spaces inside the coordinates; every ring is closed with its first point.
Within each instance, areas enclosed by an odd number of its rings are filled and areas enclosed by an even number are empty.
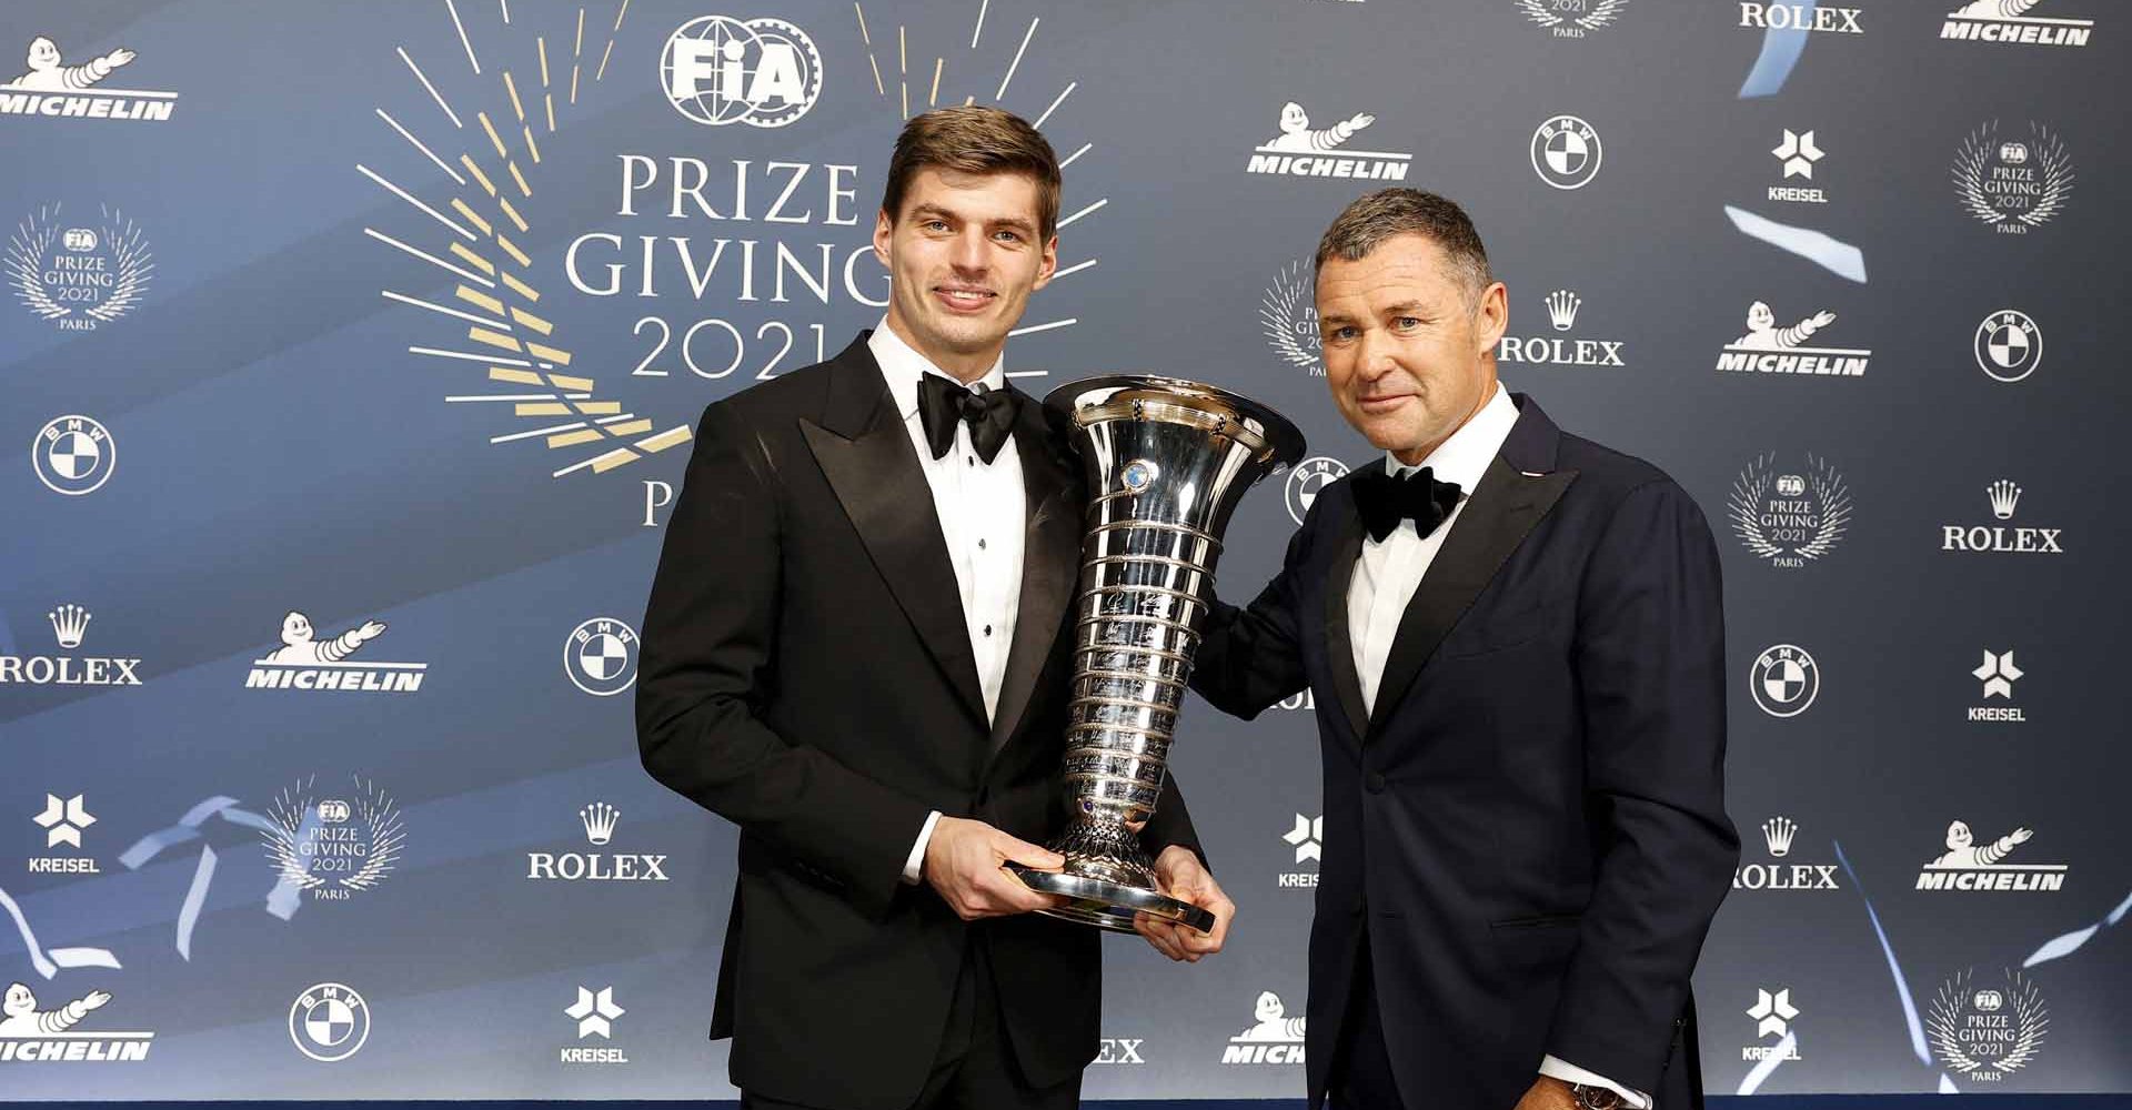
{"type": "MultiPolygon", "coordinates": [[[[1028,492],[1028,526],[1021,541],[1021,603],[1015,609],[1015,643],[1006,650],[1000,705],[991,718],[989,756],[998,756],[1021,727],[1036,680],[1051,658],[1060,618],[1072,599],[1081,569],[1081,499],[1077,462],[1045,426],[1036,398],[1021,401],[1015,422],[1015,454],[1021,456],[1021,488],[1028,492]]],[[[987,758],[989,758],[987,756],[987,758]]]]}

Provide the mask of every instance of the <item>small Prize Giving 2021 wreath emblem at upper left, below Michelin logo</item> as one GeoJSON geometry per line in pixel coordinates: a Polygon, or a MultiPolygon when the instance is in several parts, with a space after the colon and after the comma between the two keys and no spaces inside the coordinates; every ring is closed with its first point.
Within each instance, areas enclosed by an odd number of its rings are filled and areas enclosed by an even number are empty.
{"type": "Polygon", "coordinates": [[[96,226],[75,226],[47,205],[15,226],[6,275],[15,298],[62,332],[94,332],[141,303],[156,273],[141,226],[102,209],[96,226]]]}

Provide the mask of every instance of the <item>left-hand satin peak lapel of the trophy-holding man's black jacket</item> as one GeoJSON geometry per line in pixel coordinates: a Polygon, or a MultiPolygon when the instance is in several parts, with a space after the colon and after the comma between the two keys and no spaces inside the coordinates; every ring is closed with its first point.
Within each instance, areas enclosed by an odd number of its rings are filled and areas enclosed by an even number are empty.
{"type": "Polygon", "coordinates": [[[827,426],[800,422],[808,450],[895,603],[949,686],[962,695],[964,707],[983,724],[985,695],[976,684],[976,656],[970,654],[955,567],[940,537],[940,513],[934,511],[910,432],[895,420],[889,388],[863,345],[855,343],[836,358],[829,390],[823,415],[827,426]],[[872,401],[866,401],[868,394],[872,401]],[[859,411],[870,415],[859,418],[859,411]],[[853,432],[855,428],[863,430],[853,432]]]}

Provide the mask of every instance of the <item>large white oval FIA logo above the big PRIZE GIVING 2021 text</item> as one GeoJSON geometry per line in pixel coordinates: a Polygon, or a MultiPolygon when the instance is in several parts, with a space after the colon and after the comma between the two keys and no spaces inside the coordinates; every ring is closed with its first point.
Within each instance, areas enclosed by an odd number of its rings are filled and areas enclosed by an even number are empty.
{"type": "Polygon", "coordinates": [[[782,128],[821,98],[821,51],[785,19],[704,15],[667,36],[659,79],[674,111],[723,128],[782,128]]]}

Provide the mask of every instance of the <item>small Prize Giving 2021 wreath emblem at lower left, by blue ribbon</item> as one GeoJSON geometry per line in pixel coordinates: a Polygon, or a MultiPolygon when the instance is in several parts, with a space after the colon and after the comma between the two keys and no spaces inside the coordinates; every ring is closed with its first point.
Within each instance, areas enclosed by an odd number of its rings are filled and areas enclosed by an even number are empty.
{"type": "Polygon", "coordinates": [[[407,846],[399,805],[360,776],[348,793],[322,793],[318,776],[307,776],[275,797],[266,820],[262,839],[275,871],[322,901],[375,888],[407,846]]]}

